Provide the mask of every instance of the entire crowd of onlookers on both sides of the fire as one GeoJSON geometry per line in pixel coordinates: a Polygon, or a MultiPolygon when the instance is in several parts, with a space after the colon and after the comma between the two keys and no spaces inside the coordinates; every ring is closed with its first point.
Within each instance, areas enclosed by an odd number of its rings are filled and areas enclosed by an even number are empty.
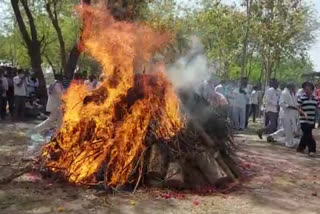
{"type": "MultiPolygon", "coordinates": [[[[86,85],[88,90],[94,90],[99,85],[94,75],[85,79],[76,73],[72,81],[86,85]]],[[[54,126],[60,127],[61,96],[70,82],[62,75],[55,75],[54,83],[47,87],[48,101],[44,110],[50,114],[34,131],[40,133],[54,126]]],[[[38,87],[39,81],[32,70],[0,67],[1,119],[5,120],[10,115],[13,120],[23,120],[28,108],[33,112],[37,110],[33,115],[41,115],[43,110],[37,96],[38,87]]],[[[279,87],[278,81],[272,79],[263,93],[260,86],[251,86],[247,78],[242,78],[240,81],[209,80],[200,88],[201,96],[230,121],[235,131],[243,131],[248,127],[250,117],[255,123],[264,113],[264,128],[257,131],[261,139],[266,135],[267,141],[281,142],[290,148],[297,147],[300,153],[308,147],[308,154],[315,155],[316,143],[312,130],[317,121],[320,124],[320,84],[315,87],[305,82],[296,92],[295,84],[282,84],[279,87]]]]}

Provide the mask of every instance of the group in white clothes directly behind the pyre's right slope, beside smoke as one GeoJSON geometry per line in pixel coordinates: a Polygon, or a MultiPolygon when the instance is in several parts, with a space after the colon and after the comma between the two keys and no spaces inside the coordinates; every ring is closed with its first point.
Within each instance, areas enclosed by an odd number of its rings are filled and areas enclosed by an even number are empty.
{"type": "Polygon", "coordinates": [[[224,112],[236,131],[243,131],[248,127],[249,118],[253,122],[261,115],[259,106],[262,104],[263,93],[261,87],[248,85],[248,80],[243,78],[239,81],[221,81],[217,83],[210,80],[202,87],[202,97],[210,105],[224,112]],[[223,109],[223,110],[221,110],[223,109]]]}

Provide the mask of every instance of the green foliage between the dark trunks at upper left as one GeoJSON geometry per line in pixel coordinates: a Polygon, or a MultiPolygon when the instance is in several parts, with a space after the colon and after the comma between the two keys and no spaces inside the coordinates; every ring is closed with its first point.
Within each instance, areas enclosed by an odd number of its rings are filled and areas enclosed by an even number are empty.
{"type": "MultiPolygon", "coordinates": [[[[62,4],[58,11],[60,27],[67,51],[72,48],[79,36],[78,19],[74,12],[76,2],[76,0],[61,1],[62,4]]],[[[58,39],[45,11],[44,1],[30,1],[30,9],[35,20],[39,40],[42,42],[43,66],[48,68],[51,67],[50,64],[52,64],[55,69],[59,70],[61,69],[61,63],[58,39]]],[[[23,16],[25,16],[25,14],[23,14],[23,16]]],[[[13,16],[8,18],[11,19],[11,25],[7,25],[0,36],[0,45],[2,47],[0,49],[0,60],[20,67],[30,67],[27,49],[21,38],[19,29],[15,24],[15,18],[13,16]]],[[[28,24],[28,22],[26,22],[26,24],[28,24]]]]}

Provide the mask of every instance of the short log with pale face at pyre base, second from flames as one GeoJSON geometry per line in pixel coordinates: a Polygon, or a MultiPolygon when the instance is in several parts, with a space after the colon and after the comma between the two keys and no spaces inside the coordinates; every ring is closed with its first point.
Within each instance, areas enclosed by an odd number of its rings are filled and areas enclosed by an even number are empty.
{"type": "Polygon", "coordinates": [[[175,189],[182,189],[185,187],[183,170],[178,161],[169,163],[165,185],[175,189]]]}

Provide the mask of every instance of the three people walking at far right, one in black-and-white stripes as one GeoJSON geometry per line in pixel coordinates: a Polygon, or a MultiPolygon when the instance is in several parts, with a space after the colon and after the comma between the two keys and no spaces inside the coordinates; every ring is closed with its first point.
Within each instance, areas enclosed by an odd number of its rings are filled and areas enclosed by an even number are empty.
{"type": "Polygon", "coordinates": [[[265,128],[258,130],[257,134],[261,139],[263,133],[267,134],[269,142],[277,141],[289,148],[297,147],[298,153],[303,153],[308,147],[309,156],[315,156],[316,142],[312,130],[320,119],[320,88],[316,89],[313,83],[305,82],[297,93],[293,83],[288,83],[280,95],[277,89],[278,83],[273,81],[266,91],[265,128]]]}

